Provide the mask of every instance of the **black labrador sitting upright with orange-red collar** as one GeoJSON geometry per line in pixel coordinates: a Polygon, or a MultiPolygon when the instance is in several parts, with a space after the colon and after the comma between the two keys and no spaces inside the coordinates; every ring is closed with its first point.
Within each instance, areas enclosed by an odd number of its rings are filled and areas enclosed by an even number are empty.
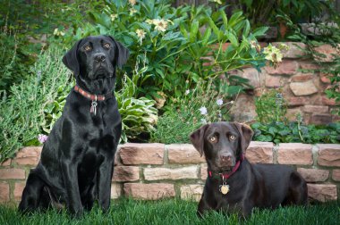
{"type": "Polygon", "coordinates": [[[85,37],[64,55],[63,63],[73,71],[76,86],[43,146],[38,166],[30,171],[21,212],[66,204],[79,216],[96,200],[103,211],[108,209],[122,132],[112,94],[115,69],[128,57],[129,51],[110,36],[85,37]]]}

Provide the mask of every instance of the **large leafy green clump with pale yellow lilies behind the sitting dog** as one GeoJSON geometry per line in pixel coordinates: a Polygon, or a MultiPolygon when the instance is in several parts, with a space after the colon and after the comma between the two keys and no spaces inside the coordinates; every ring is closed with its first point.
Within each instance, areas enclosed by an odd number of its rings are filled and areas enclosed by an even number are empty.
{"type": "MultiPolygon", "coordinates": [[[[131,53],[128,74],[136,63],[146,68],[137,85],[138,96],[156,98],[161,92],[180,97],[187,80],[194,87],[200,79],[228,77],[228,71],[245,65],[264,65],[263,55],[250,43],[266,29],[251,32],[242,12],[227,18],[223,8],[212,12],[208,6],[174,8],[167,0],[139,1],[135,5],[113,0],[88,13],[90,23],[66,29],[64,36],[57,38],[71,43],[89,34],[108,34],[123,42],[131,53]],[[226,42],[231,45],[225,49],[226,42]]],[[[238,87],[235,89],[237,93],[238,87]]]]}

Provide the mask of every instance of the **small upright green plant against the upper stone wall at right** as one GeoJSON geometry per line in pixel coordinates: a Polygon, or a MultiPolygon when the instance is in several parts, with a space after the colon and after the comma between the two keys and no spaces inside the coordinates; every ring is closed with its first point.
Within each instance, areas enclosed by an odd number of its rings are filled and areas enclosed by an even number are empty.
{"type": "Polygon", "coordinates": [[[285,121],[287,104],[282,91],[272,89],[255,100],[258,121],[271,123],[285,121]]]}

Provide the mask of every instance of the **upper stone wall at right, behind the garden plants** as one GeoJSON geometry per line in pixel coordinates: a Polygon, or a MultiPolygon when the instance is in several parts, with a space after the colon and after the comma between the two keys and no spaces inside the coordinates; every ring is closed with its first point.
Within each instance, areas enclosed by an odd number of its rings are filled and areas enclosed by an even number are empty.
{"type": "MultiPolygon", "coordinates": [[[[280,43],[272,43],[277,46],[280,43]]],[[[302,51],[306,48],[303,43],[285,42],[289,50],[283,51],[283,62],[276,68],[265,66],[261,71],[254,68],[244,68],[242,71],[231,71],[245,79],[250,79],[253,89],[237,97],[231,110],[232,121],[254,121],[255,98],[266,93],[268,89],[280,88],[288,103],[286,117],[294,121],[296,113],[300,112],[303,121],[308,124],[327,124],[332,121],[340,121],[340,117],[332,114],[336,108],[334,99],[328,99],[325,90],[331,86],[329,75],[315,71],[320,69],[312,59],[306,58],[302,51]],[[314,71],[313,71],[314,70],[314,71]]],[[[340,45],[340,44],[339,44],[340,45]]],[[[267,46],[267,43],[261,43],[267,46]]],[[[334,55],[339,55],[338,49],[329,45],[318,46],[315,51],[324,54],[325,58],[316,59],[329,63],[334,60],[334,55]]]]}

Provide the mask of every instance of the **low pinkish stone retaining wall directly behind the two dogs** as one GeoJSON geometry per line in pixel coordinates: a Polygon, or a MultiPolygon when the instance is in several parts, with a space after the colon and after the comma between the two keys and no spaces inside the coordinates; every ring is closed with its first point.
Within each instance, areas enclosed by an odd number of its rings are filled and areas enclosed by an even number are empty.
{"type": "MultiPolygon", "coordinates": [[[[17,203],[41,147],[24,147],[0,165],[0,202],[17,203]]],[[[308,182],[310,199],[326,202],[340,194],[340,145],[251,142],[246,157],[256,163],[292,165],[308,182]]],[[[112,198],[160,199],[181,196],[200,199],[207,165],[188,144],[125,144],[116,154],[112,198]]]]}

